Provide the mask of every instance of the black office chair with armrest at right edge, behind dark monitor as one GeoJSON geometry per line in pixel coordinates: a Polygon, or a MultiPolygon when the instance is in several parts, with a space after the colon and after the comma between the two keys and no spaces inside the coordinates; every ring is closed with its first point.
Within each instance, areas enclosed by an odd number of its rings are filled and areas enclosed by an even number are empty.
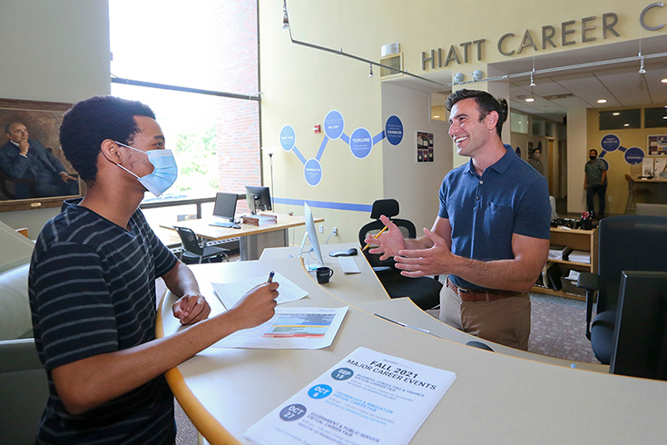
{"type": "Polygon", "coordinates": [[[600,220],[599,230],[598,272],[581,272],[577,285],[586,290],[586,337],[597,360],[609,364],[621,272],[667,271],[667,217],[610,216],[600,220]]]}

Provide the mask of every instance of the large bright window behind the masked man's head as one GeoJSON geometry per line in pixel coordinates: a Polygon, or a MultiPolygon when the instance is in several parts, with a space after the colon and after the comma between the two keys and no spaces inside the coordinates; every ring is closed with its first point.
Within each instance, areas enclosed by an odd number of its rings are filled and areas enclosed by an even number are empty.
{"type": "MultiPolygon", "coordinates": [[[[219,93],[259,90],[256,0],[199,0],[187,7],[113,0],[109,20],[117,78],[219,93]]],[[[244,193],[246,184],[260,184],[259,102],[118,82],[112,94],[155,112],[179,165],[164,198],[244,193]]]]}

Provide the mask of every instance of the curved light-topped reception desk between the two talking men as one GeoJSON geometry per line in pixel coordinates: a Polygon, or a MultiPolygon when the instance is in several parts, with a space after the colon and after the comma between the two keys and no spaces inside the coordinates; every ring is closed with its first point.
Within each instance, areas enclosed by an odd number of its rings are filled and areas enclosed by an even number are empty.
{"type": "MultiPolygon", "coordinates": [[[[325,252],[346,246],[323,246],[325,252]]],[[[192,267],[213,314],[223,307],[211,282],[280,272],[309,292],[294,307],[349,306],[333,344],[322,350],[215,349],[167,373],[176,398],[211,444],[251,443],[248,428],[359,346],[456,373],[456,381],[417,431],[413,444],[433,443],[664,443],[667,382],[605,373],[585,365],[478,340],[421,312],[409,299],[390,300],[364,257],[361,273],[344,275],[338,260],[331,282],[319,285],[290,251],[260,261],[192,267]],[[287,253],[287,254],[286,254],[287,253]],[[417,326],[405,328],[374,314],[417,326]],[[590,371],[584,371],[590,370],[590,371]],[[596,372],[597,371],[597,372],[596,372]]],[[[181,328],[171,316],[175,297],[161,302],[158,336],[181,328]],[[162,316],[164,314],[164,316],[162,316]]]]}

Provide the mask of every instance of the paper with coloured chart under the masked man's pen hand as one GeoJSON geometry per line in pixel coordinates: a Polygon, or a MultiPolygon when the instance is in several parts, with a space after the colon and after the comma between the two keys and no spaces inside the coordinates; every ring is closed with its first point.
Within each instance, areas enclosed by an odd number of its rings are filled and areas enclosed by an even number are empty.
{"type": "Polygon", "coordinates": [[[343,308],[276,308],[270,321],[236,331],[213,348],[306,349],[331,346],[348,312],[343,308]]]}

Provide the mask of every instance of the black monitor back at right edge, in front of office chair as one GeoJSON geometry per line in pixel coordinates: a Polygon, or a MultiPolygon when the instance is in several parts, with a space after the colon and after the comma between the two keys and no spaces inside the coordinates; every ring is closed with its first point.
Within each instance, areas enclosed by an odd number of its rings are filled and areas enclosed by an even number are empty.
{"type": "Polygon", "coordinates": [[[622,272],[609,372],[667,380],[667,272],[622,272]]]}

